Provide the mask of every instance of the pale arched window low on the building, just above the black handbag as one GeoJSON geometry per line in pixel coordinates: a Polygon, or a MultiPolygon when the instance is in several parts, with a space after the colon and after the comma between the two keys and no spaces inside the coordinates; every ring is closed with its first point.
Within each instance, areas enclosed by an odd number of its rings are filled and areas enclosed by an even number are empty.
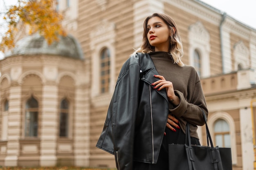
{"type": "Polygon", "coordinates": [[[214,123],[214,136],[216,146],[231,148],[229,130],[229,124],[223,119],[218,119],[214,123]]]}

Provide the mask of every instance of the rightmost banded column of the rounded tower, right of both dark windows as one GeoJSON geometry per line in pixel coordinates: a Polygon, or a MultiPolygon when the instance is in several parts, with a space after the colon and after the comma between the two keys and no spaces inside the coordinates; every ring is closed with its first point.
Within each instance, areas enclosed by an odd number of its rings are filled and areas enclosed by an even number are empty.
{"type": "Polygon", "coordinates": [[[90,91],[76,88],[74,112],[74,163],[75,166],[89,166],[90,158],[90,91]]]}

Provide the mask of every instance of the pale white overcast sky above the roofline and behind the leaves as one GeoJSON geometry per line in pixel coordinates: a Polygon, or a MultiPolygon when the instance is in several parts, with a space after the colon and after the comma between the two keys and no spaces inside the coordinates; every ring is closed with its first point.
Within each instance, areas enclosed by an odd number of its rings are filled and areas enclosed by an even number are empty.
{"type": "MultiPolygon", "coordinates": [[[[4,2],[7,6],[16,4],[18,0],[0,0],[0,12],[4,11],[4,2]]],[[[226,12],[239,22],[256,29],[256,0],[201,0],[212,7],[226,12]]],[[[2,27],[2,15],[0,15],[0,36],[5,32],[2,27]]],[[[0,52],[0,59],[3,54],[0,52]]]]}

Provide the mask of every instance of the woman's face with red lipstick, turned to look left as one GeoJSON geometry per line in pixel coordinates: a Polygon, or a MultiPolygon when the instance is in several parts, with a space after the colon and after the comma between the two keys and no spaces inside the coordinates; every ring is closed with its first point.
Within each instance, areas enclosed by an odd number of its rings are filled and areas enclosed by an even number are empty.
{"type": "Polygon", "coordinates": [[[152,17],[148,20],[148,42],[155,47],[155,51],[168,52],[170,45],[171,29],[159,17],[152,17]]]}

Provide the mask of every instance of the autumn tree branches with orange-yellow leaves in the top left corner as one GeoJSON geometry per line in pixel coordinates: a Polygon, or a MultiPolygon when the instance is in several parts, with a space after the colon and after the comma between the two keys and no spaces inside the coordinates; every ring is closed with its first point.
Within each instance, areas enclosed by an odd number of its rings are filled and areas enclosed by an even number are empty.
{"type": "Polygon", "coordinates": [[[51,44],[58,41],[58,35],[64,35],[61,25],[63,16],[56,11],[56,0],[18,0],[4,15],[8,30],[2,37],[0,51],[15,46],[15,35],[19,27],[29,27],[29,34],[38,32],[51,44]]]}

